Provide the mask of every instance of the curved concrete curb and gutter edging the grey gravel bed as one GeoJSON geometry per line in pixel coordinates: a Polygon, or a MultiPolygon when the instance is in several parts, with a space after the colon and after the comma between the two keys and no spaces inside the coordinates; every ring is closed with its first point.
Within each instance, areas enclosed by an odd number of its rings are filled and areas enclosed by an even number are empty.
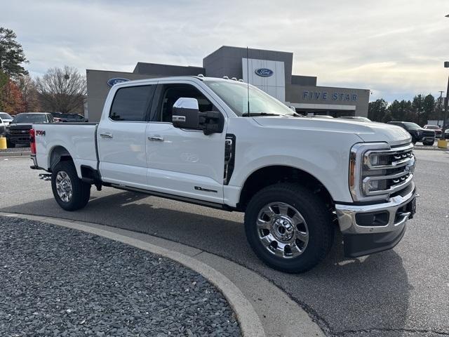
{"type": "Polygon", "coordinates": [[[255,272],[220,256],[152,235],[95,223],[19,213],[0,212],[0,216],[81,230],[175,260],[203,275],[223,293],[236,313],[242,336],[325,336],[307,312],[281,289],[255,272]]]}

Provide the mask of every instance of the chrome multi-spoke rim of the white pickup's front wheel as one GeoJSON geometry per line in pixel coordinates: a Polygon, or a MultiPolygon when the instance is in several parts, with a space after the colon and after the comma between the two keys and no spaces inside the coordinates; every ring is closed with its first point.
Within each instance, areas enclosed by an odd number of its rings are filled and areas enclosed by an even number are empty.
{"type": "Polygon", "coordinates": [[[309,242],[309,229],[301,213],[283,202],[262,207],[257,216],[257,233],[265,248],[280,258],[301,255],[309,242]]]}

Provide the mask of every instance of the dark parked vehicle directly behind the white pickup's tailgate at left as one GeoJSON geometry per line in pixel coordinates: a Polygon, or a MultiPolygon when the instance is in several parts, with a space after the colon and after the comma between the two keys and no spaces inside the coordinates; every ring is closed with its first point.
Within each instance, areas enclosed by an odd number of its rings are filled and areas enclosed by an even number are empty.
{"type": "Polygon", "coordinates": [[[8,147],[29,144],[29,130],[34,123],[53,123],[53,116],[48,112],[24,112],[16,114],[6,130],[8,147]]]}

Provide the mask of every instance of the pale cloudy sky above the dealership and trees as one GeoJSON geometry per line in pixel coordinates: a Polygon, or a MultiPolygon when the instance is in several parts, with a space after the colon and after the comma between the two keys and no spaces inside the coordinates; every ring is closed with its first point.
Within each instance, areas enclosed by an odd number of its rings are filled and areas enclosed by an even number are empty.
{"type": "Polygon", "coordinates": [[[448,0],[0,0],[0,26],[33,77],[64,65],[201,67],[220,46],[248,46],[293,52],[293,74],[389,102],[446,90],[447,14],[448,0]]]}

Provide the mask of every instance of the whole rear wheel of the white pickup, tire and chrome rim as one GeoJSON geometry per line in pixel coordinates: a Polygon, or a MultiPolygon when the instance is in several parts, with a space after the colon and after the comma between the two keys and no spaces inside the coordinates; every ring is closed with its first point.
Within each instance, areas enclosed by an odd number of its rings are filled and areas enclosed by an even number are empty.
{"type": "Polygon", "coordinates": [[[60,161],[55,165],[51,188],[56,202],[66,211],[82,209],[91,197],[91,185],[78,178],[73,161],[60,161]]]}

